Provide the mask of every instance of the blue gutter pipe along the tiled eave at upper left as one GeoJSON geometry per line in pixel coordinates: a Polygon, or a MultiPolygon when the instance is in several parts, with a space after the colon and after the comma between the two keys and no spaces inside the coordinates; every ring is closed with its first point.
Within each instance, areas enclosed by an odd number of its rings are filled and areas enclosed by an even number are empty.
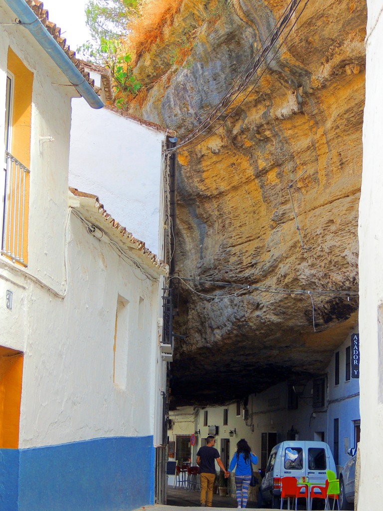
{"type": "Polygon", "coordinates": [[[88,105],[92,108],[102,108],[104,103],[85,80],[75,64],[42,25],[41,21],[28,4],[26,4],[25,0],[5,0],[5,2],[20,20],[20,25],[22,27],[26,27],[31,32],[33,37],[40,44],[41,48],[45,50],[55,64],[61,69],[69,82],[76,87],[77,91],[85,99],[88,105]]]}

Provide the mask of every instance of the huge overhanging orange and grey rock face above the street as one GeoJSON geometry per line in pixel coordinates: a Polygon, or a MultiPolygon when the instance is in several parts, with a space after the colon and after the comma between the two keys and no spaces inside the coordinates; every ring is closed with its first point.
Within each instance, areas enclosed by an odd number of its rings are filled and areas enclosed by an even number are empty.
{"type": "MultiPolygon", "coordinates": [[[[299,16],[304,4],[232,115],[179,150],[175,258],[185,277],[306,293],[234,294],[187,282],[205,297],[181,282],[175,404],[220,403],[320,374],[357,321],[355,296],[307,291],[358,289],[366,3],[309,0],[299,16]]],[[[182,141],[235,83],[286,5],[184,0],[137,63],[148,96],[132,113],[182,141]]]]}

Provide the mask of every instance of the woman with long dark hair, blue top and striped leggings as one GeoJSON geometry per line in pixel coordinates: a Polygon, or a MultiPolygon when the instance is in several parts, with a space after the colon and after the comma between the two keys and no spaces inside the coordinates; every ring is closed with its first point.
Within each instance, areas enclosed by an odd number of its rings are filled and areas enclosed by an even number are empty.
{"type": "Polygon", "coordinates": [[[238,503],[238,509],[246,507],[247,494],[249,491],[249,485],[251,481],[251,464],[257,464],[258,458],[253,452],[245,439],[240,440],[237,443],[237,452],[231,459],[228,472],[231,472],[234,467],[235,469],[235,496],[238,503]]]}

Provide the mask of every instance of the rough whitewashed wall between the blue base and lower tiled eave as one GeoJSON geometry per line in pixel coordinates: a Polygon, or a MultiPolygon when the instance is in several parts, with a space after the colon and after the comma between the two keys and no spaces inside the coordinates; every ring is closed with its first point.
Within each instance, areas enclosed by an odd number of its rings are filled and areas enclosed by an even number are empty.
{"type": "Polygon", "coordinates": [[[156,338],[151,318],[158,284],[119,258],[105,241],[89,235],[73,215],[68,230],[65,299],[35,285],[28,289],[21,448],[153,434],[156,338]],[[121,361],[125,385],[113,384],[118,295],[129,302],[126,338],[117,339],[117,350],[119,341],[127,347],[121,361]],[[141,323],[140,297],[146,319],[141,323]]]}

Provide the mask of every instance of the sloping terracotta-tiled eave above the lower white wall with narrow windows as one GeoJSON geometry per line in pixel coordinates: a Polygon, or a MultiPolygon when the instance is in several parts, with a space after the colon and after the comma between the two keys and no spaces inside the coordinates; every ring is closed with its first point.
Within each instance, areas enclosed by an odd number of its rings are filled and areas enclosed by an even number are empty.
{"type": "MultiPolygon", "coordinates": [[[[169,274],[169,266],[158,258],[158,255],[154,254],[146,248],[145,242],[135,238],[126,227],[123,227],[117,222],[104,208],[104,205],[100,203],[100,199],[97,195],[92,195],[86,192],[80,192],[77,188],[69,187],[69,192],[79,199],[80,206],[76,207],[91,223],[99,226],[102,230],[118,240],[123,248],[128,250],[137,250],[136,257],[146,266],[153,276],[158,274],[167,275],[169,274]],[[153,273],[153,270],[156,270],[153,273]]],[[[132,253],[133,254],[133,253],[132,253]]]]}

